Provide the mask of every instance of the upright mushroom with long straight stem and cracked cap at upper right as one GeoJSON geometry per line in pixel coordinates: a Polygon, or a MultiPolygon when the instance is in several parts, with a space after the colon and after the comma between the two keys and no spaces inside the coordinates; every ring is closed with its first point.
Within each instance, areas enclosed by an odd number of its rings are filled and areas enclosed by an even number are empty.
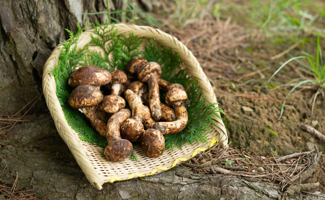
{"type": "Polygon", "coordinates": [[[139,68],[137,77],[142,82],[147,82],[149,87],[148,102],[151,116],[154,120],[161,117],[159,86],[157,78],[161,75],[161,69],[157,62],[147,62],[139,68]]]}

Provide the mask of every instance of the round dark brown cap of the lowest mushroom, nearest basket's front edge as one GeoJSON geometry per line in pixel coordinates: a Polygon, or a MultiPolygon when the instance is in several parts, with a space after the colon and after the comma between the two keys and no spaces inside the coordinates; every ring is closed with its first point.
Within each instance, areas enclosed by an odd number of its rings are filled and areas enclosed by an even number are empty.
{"type": "Polygon", "coordinates": [[[104,149],[104,155],[109,161],[121,161],[132,153],[132,143],[127,139],[116,139],[108,143],[104,149]]]}

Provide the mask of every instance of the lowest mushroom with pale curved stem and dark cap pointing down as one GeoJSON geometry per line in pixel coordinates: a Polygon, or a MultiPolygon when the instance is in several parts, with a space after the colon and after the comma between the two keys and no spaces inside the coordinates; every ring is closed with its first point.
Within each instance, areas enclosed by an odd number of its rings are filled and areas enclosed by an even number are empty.
{"type": "Polygon", "coordinates": [[[120,124],[131,116],[129,109],[121,109],[115,112],[107,121],[107,146],[104,149],[105,157],[110,161],[121,161],[132,153],[132,143],[120,137],[120,124]]]}

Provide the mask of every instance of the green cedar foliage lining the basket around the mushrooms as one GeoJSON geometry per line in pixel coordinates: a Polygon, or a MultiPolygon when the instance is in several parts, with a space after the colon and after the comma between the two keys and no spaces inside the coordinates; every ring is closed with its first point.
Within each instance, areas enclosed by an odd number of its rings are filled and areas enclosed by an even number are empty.
{"type": "MultiPolygon", "coordinates": [[[[94,34],[91,35],[90,46],[99,46],[104,53],[90,50],[88,46],[77,49],[74,45],[83,31],[78,26],[78,31],[73,34],[70,30],[70,39],[61,42],[63,48],[60,50],[59,61],[56,68],[51,70],[56,84],[56,95],[63,109],[65,118],[69,125],[79,133],[81,140],[98,146],[107,145],[105,138],[95,133],[87,119],[77,109],[68,105],[68,97],[72,88],[67,84],[67,78],[75,67],[80,65],[97,65],[109,71],[124,69],[126,62],[133,56],[143,55],[148,61],[156,61],[161,65],[161,77],[169,82],[177,82],[187,88],[188,101],[185,106],[188,112],[187,126],[179,133],[165,135],[166,148],[181,148],[185,143],[206,141],[205,134],[210,131],[210,124],[215,123],[211,115],[219,116],[222,109],[216,103],[205,103],[204,95],[196,84],[196,79],[187,76],[185,69],[179,69],[182,65],[179,53],[173,52],[171,48],[159,46],[155,40],[142,40],[133,33],[128,36],[117,35],[117,29],[112,25],[108,28],[108,22],[100,26],[97,22],[93,24],[94,34]],[[144,51],[140,50],[144,44],[144,51]]],[[[164,100],[165,94],[161,94],[164,100]]],[[[132,155],[133,159],[136,156],[132,155]]]]}

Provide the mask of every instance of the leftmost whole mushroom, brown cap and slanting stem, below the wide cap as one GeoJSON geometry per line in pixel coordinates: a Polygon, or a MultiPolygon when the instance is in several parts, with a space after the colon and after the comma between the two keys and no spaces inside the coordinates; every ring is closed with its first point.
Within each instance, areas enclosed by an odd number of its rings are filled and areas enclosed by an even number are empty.
{"type": "Polygon", "coordinates": [[[95,131],[101,136],[105,136],[106,123],[100,120],[96,115],[96,106],[102,98],[102,93],[96,86],[82,84],[72,90],[68,103],[71,107],[79,109],[84,113],[95,131]]]}

